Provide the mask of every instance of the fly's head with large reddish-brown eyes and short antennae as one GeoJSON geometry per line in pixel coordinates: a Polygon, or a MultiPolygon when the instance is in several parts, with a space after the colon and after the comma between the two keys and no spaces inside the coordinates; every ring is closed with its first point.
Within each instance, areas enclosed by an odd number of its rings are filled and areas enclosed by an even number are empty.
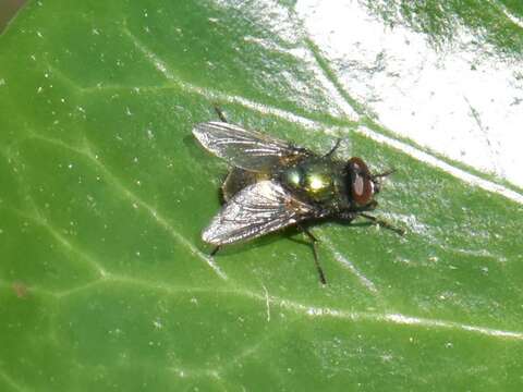
{"type": "Polygon", "coordinates": [[[362,158],[353,157],[345,166],[345,181],[349,195],[357,209],[374,209],[378,203],[374,196],[379,193],[381,183],[379,179],[391,174],[389,170],[379,174],[372,174],[362,158]]]}

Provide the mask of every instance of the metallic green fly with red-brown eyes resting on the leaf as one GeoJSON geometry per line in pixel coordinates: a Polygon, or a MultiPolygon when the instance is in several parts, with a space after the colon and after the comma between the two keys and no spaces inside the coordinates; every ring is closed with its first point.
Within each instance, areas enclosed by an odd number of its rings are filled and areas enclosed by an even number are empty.
{"type": "Polygon", "coordinates": [[[231,170],[221,187],[223,206],[202,238],[221,246],[297,226],[311,240],[319,280],[326,284],[319,265],[318,240],[304,225],[309,221],[336,219],[351,222],[357,217],[403,234],[367,212],[376,209],[380,177],[389,170],[372,174],[357,157],[348,161],[333,158],[340,139],[325,155],[294,146],[285,140],[227,122],[216,108],[220,122],[194,127],[193,134],[205,149],[224,159],[231,170]]]}

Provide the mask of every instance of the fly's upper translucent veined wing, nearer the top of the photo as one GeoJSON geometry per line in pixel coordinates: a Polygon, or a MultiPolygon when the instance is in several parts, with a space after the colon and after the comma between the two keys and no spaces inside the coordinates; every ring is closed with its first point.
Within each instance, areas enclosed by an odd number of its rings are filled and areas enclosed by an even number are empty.
{"type": "Polygon", "coordinates": [[[193,134],[210,152],[250,171],[268,171],[275,166],[313,155],[305,148],[224,122],[198,124],[193,134]]]}

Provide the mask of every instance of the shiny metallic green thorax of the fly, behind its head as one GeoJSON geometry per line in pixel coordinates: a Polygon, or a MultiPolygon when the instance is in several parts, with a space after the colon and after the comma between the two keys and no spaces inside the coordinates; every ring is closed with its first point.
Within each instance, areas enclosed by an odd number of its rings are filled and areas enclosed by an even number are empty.
{"type": "Polygon", "coordinates": [[[318,203],[339,197],[341,180],[331,160],[312,160],[283,169],[280,181],[290,189],[318,203]]]}

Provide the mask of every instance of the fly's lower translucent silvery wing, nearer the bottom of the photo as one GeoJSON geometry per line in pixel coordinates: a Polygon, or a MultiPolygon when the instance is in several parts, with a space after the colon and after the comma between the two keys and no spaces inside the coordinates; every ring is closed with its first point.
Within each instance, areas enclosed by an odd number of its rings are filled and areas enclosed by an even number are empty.
{"type": "Polygon", "coordinates": [[[230,244],[282,229],[307,218],[316,209],[275,181],[260,181],[235,194],[205,229],[202,238],[214,245],[230,244]]]}

